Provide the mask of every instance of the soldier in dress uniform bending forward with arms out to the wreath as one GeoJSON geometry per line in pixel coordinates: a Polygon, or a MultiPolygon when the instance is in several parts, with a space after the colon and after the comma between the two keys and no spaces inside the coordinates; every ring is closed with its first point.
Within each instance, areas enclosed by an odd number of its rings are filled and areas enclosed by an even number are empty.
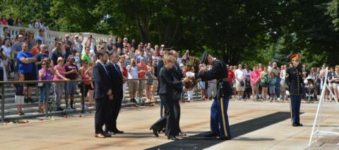
{"type": "Polygon", "coordinates": [[[215,139],[231,139],[230,125],[228,123],[227,108],[232,89],[227,80],[228,71],[224,62],[213,56],[203,53],[201,63],[213,65],[213,68],[201,73],[186,73],[187,77],[201,78],[201,80],[217,80],[217,96],[210,107],[210,130],[205,137],[215,137],[215,139]]]}

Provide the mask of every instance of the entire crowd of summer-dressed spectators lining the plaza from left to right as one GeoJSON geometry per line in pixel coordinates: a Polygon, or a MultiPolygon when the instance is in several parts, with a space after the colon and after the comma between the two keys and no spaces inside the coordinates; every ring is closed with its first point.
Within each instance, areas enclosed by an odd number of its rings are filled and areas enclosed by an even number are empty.
{"type": "MultiPolygon", "coordinates": [[[[19,19],[20,20],[20,19],[19,19]]],[[[12,25],[13,14],[6,20],[1,18],[1,24],[12,25]]],[[[157,71],[160,60],[169,53],[165,50],[165,46],[152,45],[151,43],[137,43],[135,39],[127,37],[109,38],[107,41],[100,40],[98,43],[92,35],[88,35],[86,41],[82,34],[64,35],[54,39],[54,45],[50,51],[47,49],[47,43],[44,38],[44,31],[48,30],[45,23],[41,20],[30,23],[29,28],[39,28],[37,35],[32,30],[20,30],[16,38],[11,40],[8,27],[4,27],[4,34],[0,37],[0,78],[1,80],[64,80],[65,82],[54,82],[52,84],[38,83],[13,85],[16,88],[16,103],[18,104],[18,115],[23,115],[22,101],[32,103],[37,101],[39,104],[39,112],[44,112],[45,94],[49,89],[53,90],[54,101],[56,101],[57,111],[62,111],[61,99],[63,92],[66,92],[66,104],[68,109],[74,109],[74,95],[84,94],[89,101],[87,107],[94,106],[94,84],[93,82],[72,82],[72,80],[89,80],[92,79],[93,65],[97,61],[95,58],[96,51],[106,51],[108,54],[117,53],[119,55],[119,67],[125,81],[123,85],[124,93],[126,88],[130,96],[133,106],[138,106],[143,102],[153,103],[155,101],[155,91],[157,89],[157,71]],[[143,80],[146,79],[146,80],[143,80]],[[153,80],[147,80],[153,79],[153,80]],[[52,88],[48,88],[52,87],[52,88]],[[78,90],[80,89],[80,90],[78,90]],[[32,99],[32,90],[35,90],[38,99],[32,99]],[[141,99],[145,95],[145,101],[141,99]]],[[[171,49],[168,49],[171,50],[171,49]]],[[[184,72],[186,63],[189,63],[189,52],[186,51],[184,56],[176,51],[171,51],[177,59],[179,68],[184,72]]],[[[199,71],[210,70],[212,65],[199,65],[199,71]]],[[[254,99],[262,101],[280,101],[287,99],[285,90],[286,70],[289,64],[280,65],[277,63],[269,63],[268,65],[252,66],[250,69],[246,64],[228,65],[228,81],[233,87],[234,99],[254,99]]],[[[305,83],[303,87],[304,98],[307,98],[307,86],[314,87],[314,97],[321,91],[322,83],[325,79],[325,68],[310,68],[307,70],[306,65],[302,66],[305,83]]],[[[328,82],[331,90],[338,97],[339,85],[339,68],[338,66],[331,68],[328,74],[328,82]]],[[[216,81],[199,81],[196,89],[201,92],[201,100],[211,100],[216,95],[216,81]]],[[[183,101],[191,101],[193,99],[194,90],[186,89],[188,99],[183,101]]],[[[184,95],[184,93],[182,94],[184,95]]],[[[183,97],[183,96],[182,96],[183,97]]],[[[326,99],[332,101],[329,91],[326,91],[326,99]]]]}

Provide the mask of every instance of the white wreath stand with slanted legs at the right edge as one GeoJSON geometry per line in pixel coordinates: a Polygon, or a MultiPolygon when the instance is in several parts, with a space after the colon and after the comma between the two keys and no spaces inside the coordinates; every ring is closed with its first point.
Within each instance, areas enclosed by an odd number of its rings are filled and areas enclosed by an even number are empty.
{"type": "Polygon", "coordinates": [[[316,110],[316,117],[314,118],[314,123],[313,123],[313,127],[311,130],[311,136],[309,137],[309,146],[311,146],[312,144],[312,139],[314,136],[316,136],[316,142],[319,139],[319,133],[325,133],[325,134],[332,134],[332,135],[339,135],[339,132],[331,132],[331,131],[322,131],[320,130],[320,122],[321,122],[321,109],[323,107],[323,102],[326,101],[325,99],[325,91],[326,89],[328,89],[328,91],[330,91],[331,95],[334,97],[335,102],[338,104],[338,99],[334,96],[333,92],[331,91],[331,89],[328,87],[326,81],[327,81],[327,77],[328,77],[328,68],[326,68],[326,76],[325,76],[325,80],[323,82],[323,89],[321,90],[321,95],[320,95],[320,99],[319,99],[319,104],[318,104],[318,108],[316,110]]]}

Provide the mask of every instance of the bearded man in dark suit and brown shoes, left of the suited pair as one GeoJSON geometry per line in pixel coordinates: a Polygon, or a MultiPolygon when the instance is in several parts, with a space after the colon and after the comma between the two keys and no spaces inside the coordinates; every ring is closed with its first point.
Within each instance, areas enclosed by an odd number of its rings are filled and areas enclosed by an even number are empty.
{"type": "Polygon", "coordinates": [[[107,123],[107,103],[109,96],[112,95],[112,86],[107,84],[111,81],[108,69],[105,63],[108,59],[108,54],[105,51],[97,51],[97,63],[93,67],[93,79],[95,80],[94,98],[95,98],[95,137],[105,138],[111,135],[102,130],[102,126],[107,123]]]}

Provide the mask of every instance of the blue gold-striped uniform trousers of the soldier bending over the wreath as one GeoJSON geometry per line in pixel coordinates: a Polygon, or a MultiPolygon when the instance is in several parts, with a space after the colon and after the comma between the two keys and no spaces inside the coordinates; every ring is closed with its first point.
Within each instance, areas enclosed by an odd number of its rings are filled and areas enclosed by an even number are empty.
{"type": "Polygon", "coordinates": [[[228,123],[229,96],[218,96],[214,99],[210,107],[210,130],[220,136],[231,137],[230,124],[228,123]]]}

